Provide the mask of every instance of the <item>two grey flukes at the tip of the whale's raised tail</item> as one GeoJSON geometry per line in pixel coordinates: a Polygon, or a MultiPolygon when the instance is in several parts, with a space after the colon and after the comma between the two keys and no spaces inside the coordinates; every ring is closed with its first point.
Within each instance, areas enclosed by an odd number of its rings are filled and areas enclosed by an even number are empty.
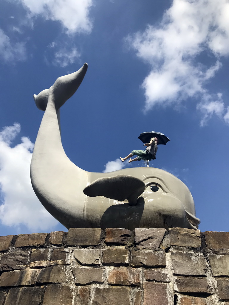
{"type": "MultiPolygon", "coordinates": [[[[87,67],[88,65],[85,63],[78,71],[57,78],[53,84],[56,109],[63,106],[67,99],[69,99],[78,89],[87,72],[87,67]]],[[[41,91],[38,95],[34,94],[33,97],[38,109],[45,111],[49,98],[49,89],[41,91]]]]}

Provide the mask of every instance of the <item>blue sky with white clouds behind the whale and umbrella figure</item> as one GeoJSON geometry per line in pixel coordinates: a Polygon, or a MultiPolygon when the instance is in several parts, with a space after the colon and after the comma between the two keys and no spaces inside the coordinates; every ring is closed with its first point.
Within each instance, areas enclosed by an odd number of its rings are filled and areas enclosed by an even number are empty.
{"type": "Polygon", "coordinates": [[[88,63],[61,108],[64,150],[109,172],[158,131],[151,167],[190,189],[199,229],[229,231],[228,0],[0,1],[0,235],[67,231],[41,205],[29,167],[43,112],[33,95],[88,63]]]}

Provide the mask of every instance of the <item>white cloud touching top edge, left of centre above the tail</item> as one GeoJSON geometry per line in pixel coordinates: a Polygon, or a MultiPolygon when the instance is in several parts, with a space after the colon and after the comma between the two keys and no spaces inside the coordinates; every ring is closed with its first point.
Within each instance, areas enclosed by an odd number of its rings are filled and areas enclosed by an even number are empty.
{"type": "Polygon", "coordinates": [[[31,18],[40,15],[46,20],[59,21],[67,33],[90,32],[89,10],[93,0],[17,0],[31,18]]]}

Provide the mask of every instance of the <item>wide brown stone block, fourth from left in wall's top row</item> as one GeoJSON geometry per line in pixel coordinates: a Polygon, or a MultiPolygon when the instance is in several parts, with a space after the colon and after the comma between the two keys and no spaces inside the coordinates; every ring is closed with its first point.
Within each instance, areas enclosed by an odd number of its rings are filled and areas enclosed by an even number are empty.
{"type": "Polygon", "coordinates": [[[101,229],[71,228],[67,233],[68,246],[96,246],[100,244],[101,229]]]}

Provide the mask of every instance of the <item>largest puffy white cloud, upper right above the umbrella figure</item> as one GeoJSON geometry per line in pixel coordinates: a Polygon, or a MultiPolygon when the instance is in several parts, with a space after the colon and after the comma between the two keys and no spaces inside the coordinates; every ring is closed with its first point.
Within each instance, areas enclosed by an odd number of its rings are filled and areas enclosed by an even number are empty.
{"type": "MultiPolygon", "coordinates": [[[[173,0],[157,27],[148,25],[127,41],[151,67],[142,84],[145,109],[179,105],[198,96],[204,102],[209,96],[206,81],[220,69],[220,56],[229,54],[229,2],[173,0]],[[198,56],[207,53],[215,56],[212,66],[199,62],[198,56]]],[[[217,114],[216,108],[210,113],[217,114]]]]}

